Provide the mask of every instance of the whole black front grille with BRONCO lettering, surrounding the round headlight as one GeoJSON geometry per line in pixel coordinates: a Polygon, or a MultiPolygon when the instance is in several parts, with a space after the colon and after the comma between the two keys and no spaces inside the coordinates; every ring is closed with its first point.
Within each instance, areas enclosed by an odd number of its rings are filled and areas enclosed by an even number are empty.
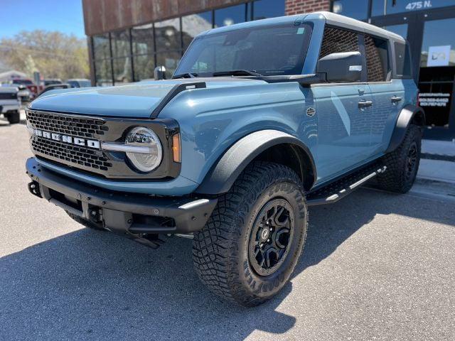
{"type": "Polygon", "coordinates": [[[26,109],[26,115],[28,130],[32,133],[31,149],[43,161],[58,163],[64,167],[109,179],[176,178],[180,172],[180,163],[169,163],[173,157],[170,148],[171,136],[178,132],[176,122],[168,121],[165,124],[159,119],[93,117],[36,109],[26,109]],[[105,141],[122,143],[124,134],[132,126],[146,126],[155,131],[164,147],[163,153],[166,158],[152,173],[136,171],[123,152],[102,149],[102,143],[105,141]],[[85,141],[77,141],[76,138],[85,141]],[[95,141],[100,143],[100,148],[95,148],[96,143],[89,144],[95,141]]]}

